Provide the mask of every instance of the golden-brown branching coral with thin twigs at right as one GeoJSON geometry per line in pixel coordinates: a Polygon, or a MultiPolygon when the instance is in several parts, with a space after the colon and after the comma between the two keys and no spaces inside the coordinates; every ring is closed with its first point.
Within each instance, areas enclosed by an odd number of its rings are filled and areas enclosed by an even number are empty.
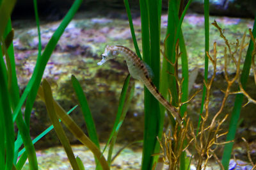
{"type": "MultiPolygon", "coordinates": [[[[220,31],[220,37],[225,41],[225,50],[224,50],[224,68],[223,73],[225,76],[225,83],[227,86],[225,89],[221,89],[223,92],[223,98],[221,101],[220,109],[216,113],[212,113],[209,110],[210,107],[210,101],[211,101],[211,89],[212,89],[212,83],[214,82],[214,79],[216,77],[217,72],[217,48],[216,48],[216,42],[213,45],[213,54],[209,54],[207,52],[207,57],[209,58],[209,61],[212,64],[213,73],[211,78],[206,82],[204,81],[204,85],[206,88],[206,97],[205,97],[205,104],[204,104],[204,113],[202,113],[200,125],[198,126],[198,130],[196,130],[193,127],[193,124],[191,121],[189,121],[189,116],[184,116],[182,126],[178,127],[177,125],[173,129],[173,132],[171,133],[170,130],[167,134],[164,134],[163,142],[160,143],[161,150],[163,153],[163,160],[165,164],[169,165],[169,169],[179,169],[179,159],[180,155],[182,154],[182,151],[185,151],[188,149],[189,146],[192,146],[195,150],[195,157],[196,160],[196,169],[205,169],[207,166],[207,163],[209,163],[210,158],[214,158],[216,162],[220,165],[221,169],[224,169],[220,159],[216,155],[216,150],[218,150],[220,145],[230,143],[232,141],[228,142],[221,142],[220,137],[223,137],[227,134],[227,130],[221,128],[223,123],[228,118],[228,113],[223,112],[223,109],[225,107],[225,104],[227,102],[227,98],[229,95],[233,95],[234,93],[243,93],[246,98],[248,98],[248,102],[256,103],[255,100],[253,100],[246,91],[244,91],[243,87],[240,83],[240,65],[241,65],[241,58],[242,58],[242,52],[243,49],[246,47],[246,44],[244,43],[245,39],[245,33],[243,35],[243,38],[241,39],[241,42],[239,40],[236,40],[236,43],[230,43],[228,42],[227,38],[223,34],[223,30],[220,26],[218,26],[217,22],[214,21],[212,23],[213,26],[215,26],[218,31],[220,31]],[[236,73],[232,76],[228,75],[228,66],[230,65],[230,62],[232,62],[236,66],[236,73]],[[231,91],[231,87],[234,86],[235,82],[239,84],[240,91],[231,91]],[[210,120],[209,115],[214,115],[213,118],[210,120]],[[220,116],[220,115],[223,116],[220,116]]],[[[253,68],[253,74],[255,76],[256,80],[256,65],[255,65],[255,55],[256,55],[256,42],[255,38],[252,36],[252,31],[250,31],[253,44],[254,44],[254,50],[253,50],[253,59],[252,59],[252,68],[253,68]]],[[[179,48],[178,45],[176,45],[176,59],[175,62],[172,63],[168,61],[171,65],[174,67],[177,66],[177,58],[179,58],[179,48]]],[[[179,78],[177,76],[177,73],[174,73],[173,76],[175,77],[177,81],[177,90],[179,90],[179,104],[178,104],[178,110],[181,107],[181,105],[187,103],[187,102],[181,102],[180,97],[182,95],[181,91],[181,84],[182,80],[179,81],[179,78]]],[[[198,93],[198,92],[196,92],[198,93]]],[[[195,93],[195,95],[196,95],[195,93]]],[[[193,95],[193,97],[195,97],[193,95]]],[[[192,98],[193,98],[192,97],[192,98]]],[[[191,99],[192,99],[191,98],[191,99]]],[[[188,102],[191,100],[189,99],[188,102]]],[[[254,166],[254,164],[252,164],[254,166]]]]}

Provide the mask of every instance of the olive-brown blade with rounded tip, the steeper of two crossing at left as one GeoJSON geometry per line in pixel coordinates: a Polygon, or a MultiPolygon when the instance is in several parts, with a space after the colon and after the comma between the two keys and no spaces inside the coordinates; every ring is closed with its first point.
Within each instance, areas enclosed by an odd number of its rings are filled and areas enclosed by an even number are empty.
{"type": "Polygon", "coordinates": [[[54,103],[53,103],[54,100],[52,97],[51,86],[50,86],[49,82],[47,82],[45,79],[43,81],[42,86],[44,89],[44,97],[45,97],[45,105],[46,105],[47,113],[52,122],[54,130],[55,130],[56,134],[58,135],[58,138],[60,139],[60,142],[61,142],[65,152],[67,153],[67,157],[68,157],[68,160],[69,160],[72,168],[75,170],[79,170],[75,155],[72,151],[72,148],[68,141],[67,135],[65,134],[63,128],[61,127],[61,123],[58,120],[58,116],[56,114],[54,103]]]}

